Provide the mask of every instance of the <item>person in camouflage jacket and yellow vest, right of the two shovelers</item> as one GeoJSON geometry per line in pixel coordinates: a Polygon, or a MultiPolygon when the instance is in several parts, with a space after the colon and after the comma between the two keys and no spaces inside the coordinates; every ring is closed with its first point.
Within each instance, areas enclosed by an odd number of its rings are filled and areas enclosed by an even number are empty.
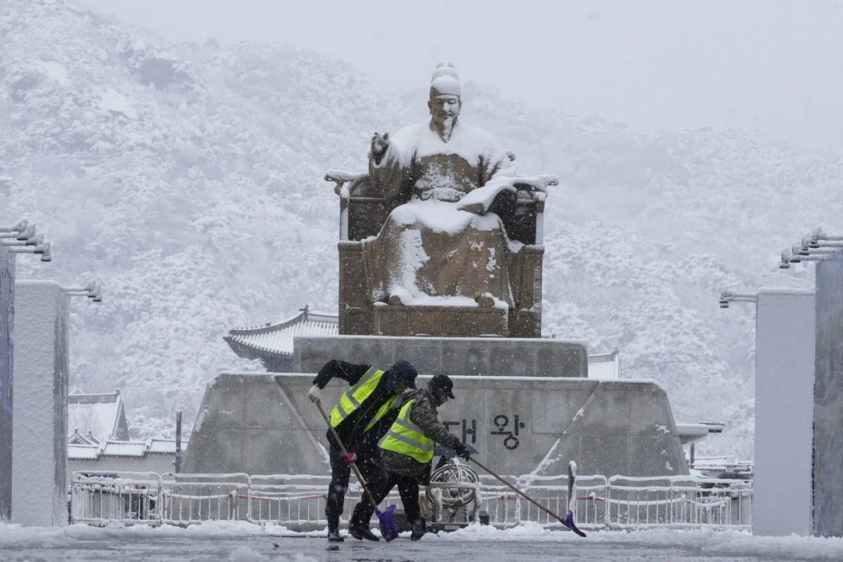
{"type": "MultiPolygon", "coordinates": [[[[438,420],[437,408],[454,398],[454,383],[446,375],[436,375],[421,388],[403,397],[398,417],[389,428],[380,448],[389,478],[372,486],[374,500],[380,503],[396,485],[404,504],[407,521],[411,522],[411,540],[427,532],[419,509],[419,484],[430,484],[435,443],[451,447],[465,459],[470,450],[448,432],[438,420]]],[[[361,500],[354,507],[349,527],[368,529],[373,509],[361,500]]]]}

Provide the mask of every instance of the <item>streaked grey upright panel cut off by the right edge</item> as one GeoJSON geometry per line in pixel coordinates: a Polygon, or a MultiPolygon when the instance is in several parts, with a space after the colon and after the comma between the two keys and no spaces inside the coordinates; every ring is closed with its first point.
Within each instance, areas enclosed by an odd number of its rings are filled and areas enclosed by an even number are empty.
{"type": "Polygon", "coordinates": [[[843,537],[843,258],[817,262],[813,534],[843,537]]]}

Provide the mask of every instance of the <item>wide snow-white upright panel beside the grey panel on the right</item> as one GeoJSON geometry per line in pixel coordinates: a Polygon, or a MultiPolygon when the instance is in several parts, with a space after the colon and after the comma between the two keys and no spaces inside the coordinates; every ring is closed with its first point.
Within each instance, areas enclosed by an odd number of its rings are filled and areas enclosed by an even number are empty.
{"type": "Polygon", "coordinates": [[[761,289],[755,328],[756,535],[811,534],[813,292],[761,289]]]}

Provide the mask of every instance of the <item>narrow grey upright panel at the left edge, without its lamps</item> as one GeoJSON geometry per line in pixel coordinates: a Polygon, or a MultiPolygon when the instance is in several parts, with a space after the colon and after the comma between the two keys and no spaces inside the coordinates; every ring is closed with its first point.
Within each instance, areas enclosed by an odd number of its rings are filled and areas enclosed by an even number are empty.
{"type": "Polygon", "coordinates": [[[12,515],[14,254],[0,246],[0,522],[12,515]]]}

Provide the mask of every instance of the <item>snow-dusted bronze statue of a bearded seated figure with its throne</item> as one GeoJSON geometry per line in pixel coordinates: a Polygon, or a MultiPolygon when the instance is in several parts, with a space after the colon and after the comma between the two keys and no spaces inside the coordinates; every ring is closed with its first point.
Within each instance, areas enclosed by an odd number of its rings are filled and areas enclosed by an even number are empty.
{"type": "Polygon", "coordinates": [[[538,337],[541,214],[556,179],[518,176],[459,119],[453,65],[433,72],[427,106],[429,122],[373,135],[368,174],[326,176],[342,197],[341,332],[538,337]]]}

